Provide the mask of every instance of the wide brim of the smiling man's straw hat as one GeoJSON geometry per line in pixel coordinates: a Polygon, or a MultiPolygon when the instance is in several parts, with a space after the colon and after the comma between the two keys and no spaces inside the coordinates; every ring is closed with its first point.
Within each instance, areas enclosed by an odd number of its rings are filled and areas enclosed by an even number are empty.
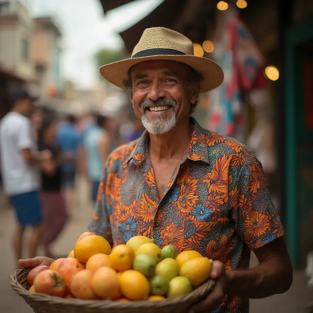
{"type": "Polygon", "coordinates": [[[128,71],[135,64],[149,60],[172,60],[185,63],[203,75],[201,92],[213,90],[222,84],[224,74],[214,61],[195,55],[152,55],[140,58],[125,59],[100,67],[100,74],[113,85],[123,88],[123,81],[128,80],[128,71]]]}

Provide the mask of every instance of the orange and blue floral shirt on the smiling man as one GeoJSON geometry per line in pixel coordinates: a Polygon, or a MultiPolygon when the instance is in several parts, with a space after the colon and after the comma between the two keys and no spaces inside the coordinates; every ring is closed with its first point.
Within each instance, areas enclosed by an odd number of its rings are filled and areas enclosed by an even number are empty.
{"type": "MultiPolygon", "coordinates": [[[[178,253],[197,250],[226,270],[248,268],[250,250],[285,234],[262,166],[238,141],[192,123],[189,146],[161,199],[146,131],[110,154],[89,229],[115,245],[144,235],[178,253]]],[[[213,312],[248,311],[248,299],[225,296],[213,312]]]]}

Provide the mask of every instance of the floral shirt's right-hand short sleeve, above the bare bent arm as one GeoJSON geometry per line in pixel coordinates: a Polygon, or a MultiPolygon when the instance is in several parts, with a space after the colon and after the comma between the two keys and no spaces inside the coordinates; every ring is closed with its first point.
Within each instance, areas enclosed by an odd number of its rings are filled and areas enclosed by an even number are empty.
{"type": "Polygon", "coordinates": [[[269,196],[262,165],[256,157],[249,158],[241,167],[229,199],[236,233],[251,250],[285,234],[269,196]]]}

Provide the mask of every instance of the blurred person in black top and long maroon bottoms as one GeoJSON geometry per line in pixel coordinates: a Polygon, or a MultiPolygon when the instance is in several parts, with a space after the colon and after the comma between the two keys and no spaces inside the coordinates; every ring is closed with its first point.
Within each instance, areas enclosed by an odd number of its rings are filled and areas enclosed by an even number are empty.
{"type": "Polygon", "coordinates": [[[41,203],[44,217],[42,242],[45,255],[54,257],[50,244],[63,229],[68,215],[61,193],[61,164],[64,160],[60,146],[56,143],[57,122],[53,116],[46,117],[38,132],[38,150],[51,151],[52,158],[41,163],[41,203]]]}

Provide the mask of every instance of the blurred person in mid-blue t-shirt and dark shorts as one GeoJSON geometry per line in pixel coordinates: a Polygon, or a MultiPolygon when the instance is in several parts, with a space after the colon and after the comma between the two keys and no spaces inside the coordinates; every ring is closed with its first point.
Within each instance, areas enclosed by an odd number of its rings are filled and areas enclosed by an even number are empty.
{"type": "Polygon", "coordinates": [[[71,210],[75,199],[75,177],[77,167],[84,151],[82,148],[82,137],[76,129],[76,118],[68,115],[65,121],[59,125],[58,143],[63,152],[72,155],[71,161],[63,162],[62,170],[62,189],[65,193],[66,207],[71,210]]]}

